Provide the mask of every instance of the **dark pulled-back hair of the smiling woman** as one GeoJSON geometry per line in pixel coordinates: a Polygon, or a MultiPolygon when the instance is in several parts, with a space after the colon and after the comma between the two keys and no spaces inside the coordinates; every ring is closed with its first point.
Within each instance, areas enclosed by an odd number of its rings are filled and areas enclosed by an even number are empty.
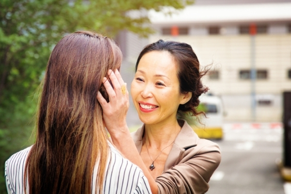
{"type": "Polygon", "coordinates": [[[200,64],[192,47],[186,43],[163,40],[149,44],[141,51],[135,65],[135,70],[137,70],[141,58],[151,51],[165,51],[173,56],[177,65],[180,92],[184,94],[192,93],[192,97],[187,103],[179,105],[178,117],[181,117],[184,113],[190,113],[190,115],[201,113],[196,108],[200,103],[198,97],[208,91],[208,88],[204,87],[201,82],[201,78],[207,71],[200,71],[200,64]]]}

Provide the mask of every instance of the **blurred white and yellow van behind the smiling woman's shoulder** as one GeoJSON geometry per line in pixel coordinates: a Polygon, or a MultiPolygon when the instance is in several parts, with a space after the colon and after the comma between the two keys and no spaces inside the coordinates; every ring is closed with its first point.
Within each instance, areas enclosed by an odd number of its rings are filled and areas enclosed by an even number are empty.
{"type": "Polygon", "coordinates": [[[222,139],[223,138],[223,104],[220,97],[212,95],[202,95],[199,97],[199,109],[206,113],[206,117],[199,116],[200,123],[191,124],[195,133],[204,139],[222,139]]]}

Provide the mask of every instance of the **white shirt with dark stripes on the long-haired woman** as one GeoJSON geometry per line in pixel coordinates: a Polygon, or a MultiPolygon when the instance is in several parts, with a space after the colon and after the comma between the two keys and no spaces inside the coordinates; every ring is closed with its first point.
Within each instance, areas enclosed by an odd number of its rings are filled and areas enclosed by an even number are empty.
{"type": "MultiPolygon", "coordinates": [[[[31,148],[32,146],[17,152],[5,162],[5,180],[8,194],[24,194],[24,168],[31,148]]],[[[151,194],[148,181],[142,170],[123,158],[111,143],[109,143],[109,148],[103,194],[151,194]]],[[[92,194],[95,194],[96,191],[98,162],[96,163],[92,178],[92,194]]]]}

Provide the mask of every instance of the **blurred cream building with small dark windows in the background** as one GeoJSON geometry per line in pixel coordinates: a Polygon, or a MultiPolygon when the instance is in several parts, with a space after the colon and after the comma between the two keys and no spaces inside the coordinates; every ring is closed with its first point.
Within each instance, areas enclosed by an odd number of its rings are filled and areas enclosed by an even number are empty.
{"type": "Polygon", "coordinates": [[[148,40],[125,33],[130,68],[147,43],[186,42],[202,66],[212,64],[204,83],[222,98],[226,120],[282,120],[282,92],[291,90],[290,0],[196,0],[149,16],[157,33],[148,40]]]}

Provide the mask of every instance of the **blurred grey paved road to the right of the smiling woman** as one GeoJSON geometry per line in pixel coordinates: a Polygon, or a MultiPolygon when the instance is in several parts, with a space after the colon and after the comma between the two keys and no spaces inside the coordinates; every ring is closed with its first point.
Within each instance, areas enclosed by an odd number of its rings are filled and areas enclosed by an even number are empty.
{"type": "Polygon", "coordinates": [[[225,124],[222,162],[207,194],[289,194],[275,161],[282,158],[280,124],[225,124]],[[285,191],[284,191],[285,185],[285,191]]]}

